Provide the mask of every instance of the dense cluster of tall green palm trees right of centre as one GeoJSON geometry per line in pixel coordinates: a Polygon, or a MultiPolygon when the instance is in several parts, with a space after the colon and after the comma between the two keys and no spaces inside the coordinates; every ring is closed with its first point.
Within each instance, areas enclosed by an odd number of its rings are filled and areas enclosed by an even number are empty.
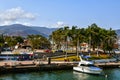
{"type": "Polygon", "coordinates": [[[50,39],[56,44],[57,49],[61,49],[64,45],[75,47],[80,43],[89,43],[89,48],[95,50],[95,48],[101,48],[104,51],[111,51],[114,48],[114,44],[117,39],[117,34],[112,28],[109,30],[98,27],[96,24],[92,24],[87,28],[78,28],[77,26],[69,26],[60,28],[54,31],[50,35],[50,39]]]}

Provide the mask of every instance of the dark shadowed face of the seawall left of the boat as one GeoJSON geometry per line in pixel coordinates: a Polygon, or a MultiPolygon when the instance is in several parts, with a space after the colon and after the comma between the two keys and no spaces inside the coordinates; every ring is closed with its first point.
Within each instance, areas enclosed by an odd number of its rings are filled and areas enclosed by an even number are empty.
{"type": "Polygon", "coordinates": [[[40,71],[54,71],[54,70],[72,70],[72,65],[39,65],[39,66],[19,66],[19,67],[1,67],[0,74],[7,73],[24,73],[24,72],[40,72],[40,71]]]}

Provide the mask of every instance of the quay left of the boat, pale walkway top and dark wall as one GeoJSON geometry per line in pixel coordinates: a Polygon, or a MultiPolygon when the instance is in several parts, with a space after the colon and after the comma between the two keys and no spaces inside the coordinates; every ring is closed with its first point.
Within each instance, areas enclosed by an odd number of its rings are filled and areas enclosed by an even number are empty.
{"type": "Polygon", "coordinates": [[[72,70],[72,62],[52,62],[47,61],[3,61],[0,62],[0,74],[20,73],[20,72],[39,72],[53,70],[72,70]]]}

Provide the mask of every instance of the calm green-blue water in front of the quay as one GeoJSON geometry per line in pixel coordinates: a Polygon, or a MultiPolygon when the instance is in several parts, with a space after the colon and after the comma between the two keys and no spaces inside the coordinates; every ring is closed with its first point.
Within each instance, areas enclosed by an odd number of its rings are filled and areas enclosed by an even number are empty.
{"type": "Polygon", "coordinates": [[[120,80],[120,69],[104,70],[108,78],[102,75],[90,75],[72,70],[31,72],[0,75],[0,80],[120,80]]]}

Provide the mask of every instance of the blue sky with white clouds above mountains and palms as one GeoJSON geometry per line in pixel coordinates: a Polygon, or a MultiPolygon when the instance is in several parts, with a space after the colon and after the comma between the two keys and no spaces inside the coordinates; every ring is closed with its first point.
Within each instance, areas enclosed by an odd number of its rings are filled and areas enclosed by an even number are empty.
{"type": "Polygon", "coordinates": [[[0,25],[86,28],[93,23],[120,29],[120,0],[0,0],[0,25]]]}

